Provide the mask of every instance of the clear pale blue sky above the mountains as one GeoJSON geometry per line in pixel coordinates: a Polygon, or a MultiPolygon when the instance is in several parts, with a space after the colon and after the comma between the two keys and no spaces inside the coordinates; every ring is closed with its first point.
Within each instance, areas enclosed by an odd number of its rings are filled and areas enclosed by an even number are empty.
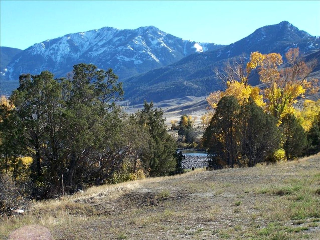
{"type": "Polygon", "coordinates": [[[320,35],[320,1],[0,1],[0,45],[34,43],[103,26],[156,26],[177,37],[230,44],[289,21],[320,35]]]}

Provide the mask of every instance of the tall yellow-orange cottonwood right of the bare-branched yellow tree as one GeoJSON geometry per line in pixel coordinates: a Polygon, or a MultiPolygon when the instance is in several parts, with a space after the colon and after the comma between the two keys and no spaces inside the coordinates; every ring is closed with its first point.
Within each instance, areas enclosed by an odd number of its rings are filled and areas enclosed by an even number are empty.
{"type": "Polygon", "coordinates": [[[278,53],[261,55],[260,81],[266,85],[264,90],[268,102],[268,111],[281,121],[281,118],[294,112],[293,104],[306,92],[315,93],[317,79],[307,80],[315,66],[315,61],[306,64],[299,53],[299,49],[289,49],[285,54],[287,64],[283,63],[278,53]]]}

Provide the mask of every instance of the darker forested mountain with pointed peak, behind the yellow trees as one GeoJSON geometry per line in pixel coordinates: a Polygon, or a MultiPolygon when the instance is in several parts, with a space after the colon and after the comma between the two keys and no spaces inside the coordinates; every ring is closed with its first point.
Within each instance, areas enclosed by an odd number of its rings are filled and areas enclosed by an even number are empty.
{"type": "MultiPolygon", "coordinates": [[[[176,63],[127,79],[124,84],[125,98],[136,104],[144,99],[158,102],[188,95],[207,95],[223,88],[212,69],[223,67],[225,61],[240,55],[249,59],[254,51],[284,55],[288,49],[296,47],[309,60],[316,58],[320,63],[319,37],[311,36],[287,21],[264,26],[221,49],[191,54],[176,63]]],[[[249,81],[253,85],[259,83],[258,77],[249,81]]]]}

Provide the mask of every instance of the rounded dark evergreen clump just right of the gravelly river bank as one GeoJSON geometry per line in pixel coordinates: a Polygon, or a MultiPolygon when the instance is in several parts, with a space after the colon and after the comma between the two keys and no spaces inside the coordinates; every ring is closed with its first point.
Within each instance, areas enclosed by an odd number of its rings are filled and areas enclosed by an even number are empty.
{"type": "Polygon", "coordinates": [[[218,102],[203,136],[210,168],[255,166],[281,143],[276,119],[264,113],[251,98],[240,106],[234,96],[218,102]]]}

